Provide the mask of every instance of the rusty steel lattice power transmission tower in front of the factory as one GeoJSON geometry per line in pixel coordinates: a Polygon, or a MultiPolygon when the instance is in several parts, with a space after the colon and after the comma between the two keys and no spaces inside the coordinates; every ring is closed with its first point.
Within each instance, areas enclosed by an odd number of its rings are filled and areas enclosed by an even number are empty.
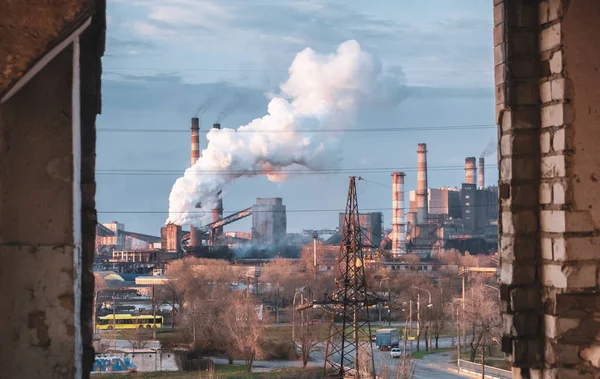
{"type": "Polygon", "coordinates": [[[367,288],[354,176],[350,177],[335,289],[327,297],[320,303],[331,316],[324,375],[375,378],[369,307],[382,300],[367,288]]]}

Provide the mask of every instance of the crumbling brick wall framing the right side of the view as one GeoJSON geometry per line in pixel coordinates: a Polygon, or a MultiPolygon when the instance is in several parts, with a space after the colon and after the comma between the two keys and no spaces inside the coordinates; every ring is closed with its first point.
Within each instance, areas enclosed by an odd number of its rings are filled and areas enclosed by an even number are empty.
{"type": "Polygon", "coordinates": [[[503,350],[515,378],[600,373],[600,2],[495,0],[503,350]]]}

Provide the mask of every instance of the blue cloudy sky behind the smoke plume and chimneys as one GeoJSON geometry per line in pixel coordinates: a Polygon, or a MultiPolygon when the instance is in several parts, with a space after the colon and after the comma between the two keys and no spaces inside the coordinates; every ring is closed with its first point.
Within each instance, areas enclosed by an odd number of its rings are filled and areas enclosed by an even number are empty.
{"type": "MultiPolygon", "coordinates": [[[[190,118],[204,105],[205,148],[217,120],[237,128],[261,117],[268,94],[307,47],[331,53],[354,39],[375,55],[402,78],[404,100],[391,109],[361,109],[352,127],[407,130],[344,134],[340,174],[281,183],[241,178],[226,189],[226,214],[257,197],[282,197],[288,232],[335,228],[355,174],[365,179],[358,182],[359,209],[383,211],[388,227],[390,174],[405,171],[406,192],[416,187],[418,143],[427,143],[430,187],[460,186],[465,157],[496,146],[487,1],[108,0],[107,8],[97,119],[101,222],[159,235],[173,183],[190,165],[190,118]]],[[[492,149],[489,184],[498,177],[495,158],[492,149]]],[[[249,219],[225,228],[249,229],[249,219]]]]}

